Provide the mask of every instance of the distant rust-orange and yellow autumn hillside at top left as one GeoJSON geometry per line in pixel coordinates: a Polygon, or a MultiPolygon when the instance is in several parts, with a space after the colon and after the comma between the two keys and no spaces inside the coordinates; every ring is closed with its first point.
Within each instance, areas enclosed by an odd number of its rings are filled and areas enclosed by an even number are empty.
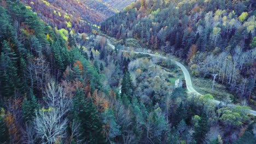
{"type": "Polygon", "coordinates": [[[102,1],[21,1],[38,14],[46,24],[56,27],[74,29],[75,32],[91,32],[100,22],[114,15],[117,10],[102,1]]]}

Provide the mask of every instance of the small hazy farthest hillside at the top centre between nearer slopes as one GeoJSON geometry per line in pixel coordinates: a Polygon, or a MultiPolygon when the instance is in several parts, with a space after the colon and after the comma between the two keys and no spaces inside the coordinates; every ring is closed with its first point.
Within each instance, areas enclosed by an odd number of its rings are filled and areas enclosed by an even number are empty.
{"type": "Polygon", "coordinates": [[[136,0],[102,0],[111,5],[112,8],[122,11],[125,7],[135,2],[136,0]]]}

